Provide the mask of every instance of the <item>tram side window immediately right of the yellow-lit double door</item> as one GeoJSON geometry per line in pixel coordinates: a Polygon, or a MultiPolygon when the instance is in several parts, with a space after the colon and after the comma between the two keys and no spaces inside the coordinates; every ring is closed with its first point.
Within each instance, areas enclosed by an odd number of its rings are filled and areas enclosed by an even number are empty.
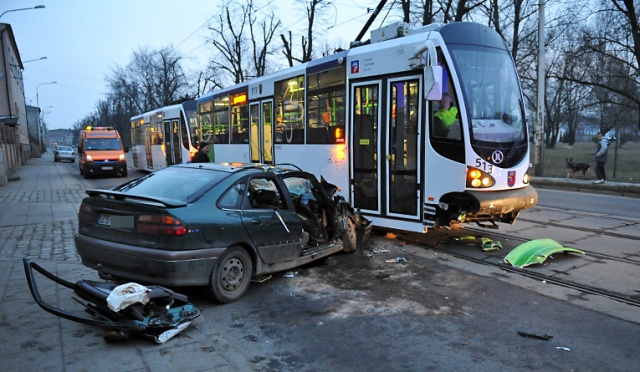
{"type": "Polygon", "coordinates": [[[276,143],[304,143],[304,76],[278,81],[276,95],[276,143]]]}

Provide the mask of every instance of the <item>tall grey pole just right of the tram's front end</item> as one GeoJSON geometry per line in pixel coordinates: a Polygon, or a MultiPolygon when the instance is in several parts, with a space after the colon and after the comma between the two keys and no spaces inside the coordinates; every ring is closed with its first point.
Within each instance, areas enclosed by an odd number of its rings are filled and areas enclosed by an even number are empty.
{"type": "Polygon", "coordinates": [[[538,104],[536,110],[536,138],[534,156],[534,176],[542,176],[544,149],[544,97],[545,97],[545,56],[544,56],[544,2],[538,6],[538,104]]]}

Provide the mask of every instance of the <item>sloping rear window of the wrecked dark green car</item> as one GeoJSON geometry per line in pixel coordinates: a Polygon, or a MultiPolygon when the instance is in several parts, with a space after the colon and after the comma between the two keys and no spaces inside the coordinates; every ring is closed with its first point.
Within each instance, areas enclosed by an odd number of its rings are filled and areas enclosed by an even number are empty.
{"type": "Polygon", "coordinates": [[[217,184],[229,173],[207,169],[169,167],[114,188],[129,195],[188,202],[192,195],[217,184]]]}

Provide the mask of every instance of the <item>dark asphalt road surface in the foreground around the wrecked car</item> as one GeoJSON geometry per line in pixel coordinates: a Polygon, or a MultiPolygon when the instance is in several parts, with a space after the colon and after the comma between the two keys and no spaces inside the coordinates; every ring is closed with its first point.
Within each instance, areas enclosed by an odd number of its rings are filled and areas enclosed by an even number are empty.
{"type": "MultiPolygon", "coordinates": [[[[85,182],[77,165],[51,162],[34,167],[38,177],[62,177],[67,188],[124,181],[85,182]],[[56,167],[56,172],[48,167],[56,167]]],[[[61,183],[42,182],[43,187],[61,183]]],[[[55,209],[66,203],[48,201],[49,194],[29,199],[23,193],[28,192],[16,190],[0,198],[3,210],[31,211],[43,204],[55,209]]],[[[587,197],[582,203],[588,201],[587,197]]],[[[615,212],[612,207],[609,213],[615,212]]],[[[0,279],[7,283],[0,302],[0,358],[8,369],[631,371],[640,365],[640,324],[606,313],[606,303],[598,304],[602,311],[589,309],[580,304],[598,300],[578,291],[470,264],[391,236],[375,237],[363,254],[334,255],[294,270],[293,277],[281,273],[252,283],[247,295],[232,304],[211,303],[200,289],[185,289],[203,315],[183,333],[163,345],[137,337],[110,344],[99,329],[44,312],[26,290],[24,256],[72,282],[97,279],[73,255],[73,247],[62,247],[64,256],[57,253],[60,227],[73,229],[76,222],[54,222],[55,218],[46,215],[34,218],[33,226],[9,222],[0,228],[5,239],[0,279]],[[51,245],[47,240],[54,243],[52,252],[43,249],[51,245]],[[406,264],[396,262],[399,257],[406,264]],[[519,332],[552,338],[545,341],[519,332]]],[[[518,226],[525,224],[514,228],[518,226]]],[[[48,283],[40,288],[58,306],[75,304],[68,291],[48,283]]]]}

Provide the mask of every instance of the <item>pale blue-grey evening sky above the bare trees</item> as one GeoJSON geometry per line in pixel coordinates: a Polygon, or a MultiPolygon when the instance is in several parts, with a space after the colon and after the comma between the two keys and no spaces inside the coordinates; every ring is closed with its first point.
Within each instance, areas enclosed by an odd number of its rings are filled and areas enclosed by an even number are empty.
{"type": "MultiPolygon", "coordinates": [[[[275,7],[285,27],[304,24],[292,0],[254,0],[258,11],[275,7]],[[262,7],[267,5],[268,7],[262,7]],[[278,10],[279,9],[279,10],[278,10]]],[[[221,0],[1,0],[0,22],[13,29],[27,105],[40,106],[49,130],[72,128],[108,92],[105,77],[125,67],[134,51],[173,46],[188,71],[203,70],[212,56],[208,21],[221,0]],[[46,57],[46,59],[40,59],[46,57]],[[33,61],[32,61],[33,60],[33,61]],[[29,62],[28,62],[29,61],[29,62]],[[55,83],[53,83],[55,82],[55,83]]],[[[378,0],[334,0],[324,31],[333,40],[355,39],[378,0]]],[[[388,7],[388,6],[387,6],[388,7]]],[[[382,17],[379,17],[382,18],[382,17]]],[[[386,23],[396,21],[389,20],[386,23]]],[[[371,28],[374,28],[373,26],[371,28]]],[[[364,39],[369,37],[367,34],[364,39]]],[[[278,45],[281,44],[277,39],[278,45]]]]}

